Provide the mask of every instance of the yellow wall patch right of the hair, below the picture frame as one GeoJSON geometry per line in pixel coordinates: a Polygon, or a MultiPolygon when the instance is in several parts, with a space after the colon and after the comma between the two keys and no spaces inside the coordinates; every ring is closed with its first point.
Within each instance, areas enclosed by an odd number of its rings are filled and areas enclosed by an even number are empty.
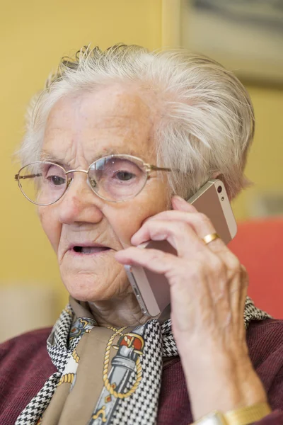
{"type": "Polygon", "coordinates": [[[255,140],[250,149],[246,176],[254,186],[243,191],[233,203],[238,219],[245,219],[250,203],[264,192],[283,193],[283,88],[248,86],[255,108],[255,140]]]}

